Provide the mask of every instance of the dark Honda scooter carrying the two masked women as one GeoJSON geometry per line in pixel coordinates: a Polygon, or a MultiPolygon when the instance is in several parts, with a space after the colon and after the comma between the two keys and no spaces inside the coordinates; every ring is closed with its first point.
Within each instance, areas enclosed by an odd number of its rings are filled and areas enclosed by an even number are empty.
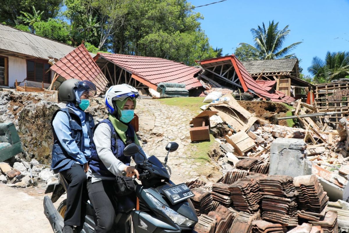
{"type": "MultiPolygon", "coordinates": [[[[171,142],[166,145],[168,151],[164,162],[152,155],[137,164],[135,168],[139,172],[139,182],[133,178],[135,184],[136,200],[132,195],[118,196],[116,218],[114,221],[115,233],[180,233],[193,232],[198,217],[194,206],[189,199],[193,192],[185,185],[174,184],[170,180],[171,169],[166,165],[170,152],[176,151],[178,144],[171,142]]],[[[140,146],[132,143],[125,147],[124,155],[132,156],[140,152],[140,146]]],[[[125,173],[123,175],[126,175],[125,173]]],[[[60,175],[59,181],[47,186],[44,197],[44,212],[49,219],[53,232],[61,233],[64,227],[64,213],[66,200],[62,201],[55,209],[56,202],[67,191],[69,183],[60,175]]],[[[96,214],[90,201],[86,203],[87,214],[82,229],[76,232],[92,233],[97,223],[96,214]]]]}

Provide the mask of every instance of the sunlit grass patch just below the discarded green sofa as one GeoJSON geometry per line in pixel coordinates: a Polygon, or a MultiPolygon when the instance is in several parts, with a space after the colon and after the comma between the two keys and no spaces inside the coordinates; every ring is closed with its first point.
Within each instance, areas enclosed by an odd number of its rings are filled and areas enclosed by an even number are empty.
{"type": "Polygon", "coordinates": [[[159,99],[163,104],[178,106],[183,109],[191,110],[194,113],[198,113],[201,111],[200,107],[205,105],[202,103],[205,97],[173,97],[173,98],[164,98],[159,99]]]}

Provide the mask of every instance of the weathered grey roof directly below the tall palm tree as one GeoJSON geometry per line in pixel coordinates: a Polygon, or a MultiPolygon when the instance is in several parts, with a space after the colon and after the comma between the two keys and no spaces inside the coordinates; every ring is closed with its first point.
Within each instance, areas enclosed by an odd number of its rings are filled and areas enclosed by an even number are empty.
{"type": "Polygon", "coordinates": [[[246,70],[250,74],[257,73],[275,73],[275,72],[291,72],[297,63],[294,59],[275,59],[275,60],[255,60],[242,61],[246,70]]]}

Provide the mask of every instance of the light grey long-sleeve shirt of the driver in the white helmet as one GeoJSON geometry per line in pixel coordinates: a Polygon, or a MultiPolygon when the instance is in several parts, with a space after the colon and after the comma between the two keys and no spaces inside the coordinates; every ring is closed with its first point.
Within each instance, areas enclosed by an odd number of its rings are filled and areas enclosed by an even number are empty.
{"type": "MultiPolygon", "coordinates": [[[[98,124],[93,135],[93,141],[96,146],[96,151],[99,159],[103,162],[104,166],[114,175],[121,176],[122,171],[127,167],[121,162],[111,150],[111,136],[112,132],[107,123],[98,124]]],[[[141,149],[141,153],[145,154],[141,149]]],[[[145,154],[146,155],[146,154],[145,154]]],[[[148,158],[148,156],[146,155],[148,158]]],[[[144,157],[140,153],[134,155],[135,163],[142,163],[144,157]]],[[[94,183],[99,180],[114,180],[113,177],[102,176],[98,174],[92,174],[91,169],[88,171],[88,176],[92,177],[91,182],[94,183]]]]}

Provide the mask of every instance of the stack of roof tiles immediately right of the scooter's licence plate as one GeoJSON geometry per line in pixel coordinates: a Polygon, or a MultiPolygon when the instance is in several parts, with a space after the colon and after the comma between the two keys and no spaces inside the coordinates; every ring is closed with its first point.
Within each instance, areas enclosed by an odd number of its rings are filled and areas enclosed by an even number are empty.
{"type": "Polygon", "coordinates": [[[193,194],[195,195],[192,197],[192,202],[196,211],[196,214],[200,215],[202,213],[207,214],[212,209],[212,195],[211,192],[200,189],[200,188],[194,188],[192,189],[193,194]]]}

